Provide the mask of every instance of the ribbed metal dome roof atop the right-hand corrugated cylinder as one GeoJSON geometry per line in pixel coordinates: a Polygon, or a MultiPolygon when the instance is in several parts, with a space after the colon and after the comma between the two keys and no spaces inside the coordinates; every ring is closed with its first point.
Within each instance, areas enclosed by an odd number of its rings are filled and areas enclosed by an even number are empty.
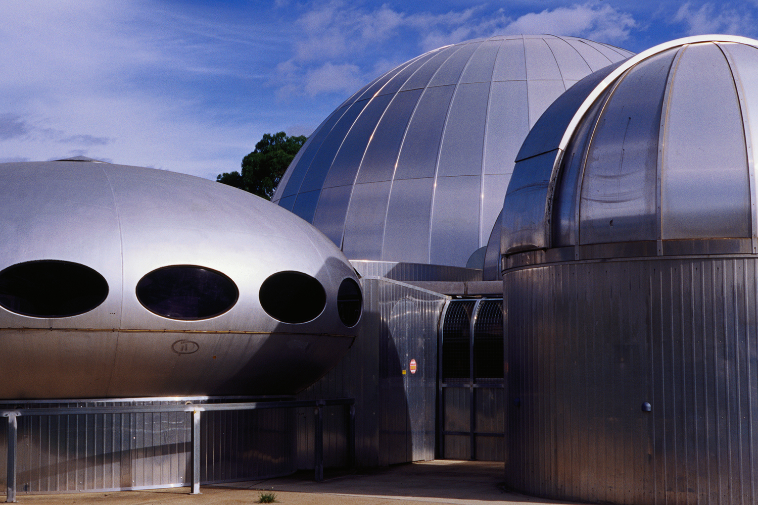
{"type": "Polygon", "coordinates": [[[503,253],[755,253],[756,118],[751,39],[679,39],[588,76],[518,153],[503,253]]]}

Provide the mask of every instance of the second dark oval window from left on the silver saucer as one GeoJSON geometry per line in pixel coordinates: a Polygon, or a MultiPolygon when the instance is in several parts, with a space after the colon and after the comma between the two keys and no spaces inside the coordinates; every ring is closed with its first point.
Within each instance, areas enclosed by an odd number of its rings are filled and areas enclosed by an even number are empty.
{"type": "Polygon", "coordinates": [[[240,297],[232,279],[195,265],[162,267],[137,282],[140,304],[158,316],[174,320],[204,320],[218,316],[240,297]]]}

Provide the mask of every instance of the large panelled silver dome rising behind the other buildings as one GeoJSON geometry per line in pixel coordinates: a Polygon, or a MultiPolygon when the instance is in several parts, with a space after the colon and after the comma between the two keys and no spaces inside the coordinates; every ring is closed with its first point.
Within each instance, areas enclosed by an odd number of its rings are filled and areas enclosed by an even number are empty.
{"type": "Polygon", "coordinates": [[[550,35],[430,51],[327,117],[273,200],[351,259],[465,266],[487,244],[540,114],[579,79],[631,55],[550,35]]]}

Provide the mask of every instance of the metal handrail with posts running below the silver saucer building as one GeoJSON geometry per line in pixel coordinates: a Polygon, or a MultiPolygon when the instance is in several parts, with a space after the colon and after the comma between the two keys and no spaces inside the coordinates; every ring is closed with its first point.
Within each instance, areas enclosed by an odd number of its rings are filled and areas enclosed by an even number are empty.
{"type": "MultiPolygon", "coordinates": [[[[119,401],[113,399],[112,401],[119,401]]],[[[192,415],[192,486],[190,494],[200,494],[200,413],[210,410],[256,410],[315,407],[314,410],[314,460],[317,482],[324,480],[324,423],[323,409],[335,405],[345,407],[347,461],[352,467],[356,461],[356,400],[334,398],[329,400],[284,400],[253,401],[229,404],[174,404],[174,405],[119,405],[111,407],[42,407],[0,410],[0,417],[8,418],[8,491],[5,503],[16,503],[18,417],[20,416],[69,416],[72,414],[116,414],[186,412],[192,415]]]]}

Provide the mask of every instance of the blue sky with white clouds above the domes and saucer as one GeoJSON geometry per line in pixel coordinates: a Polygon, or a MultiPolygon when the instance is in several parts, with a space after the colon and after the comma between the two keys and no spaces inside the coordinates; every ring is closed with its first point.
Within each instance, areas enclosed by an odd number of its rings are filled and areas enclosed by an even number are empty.
{"type": "Polygon", "coordinates": [[[643,51],[758,38],[758,2],[4,0],[0,162],[84,155],[215,179],[424,51],[552,33],[643,51]]]}

